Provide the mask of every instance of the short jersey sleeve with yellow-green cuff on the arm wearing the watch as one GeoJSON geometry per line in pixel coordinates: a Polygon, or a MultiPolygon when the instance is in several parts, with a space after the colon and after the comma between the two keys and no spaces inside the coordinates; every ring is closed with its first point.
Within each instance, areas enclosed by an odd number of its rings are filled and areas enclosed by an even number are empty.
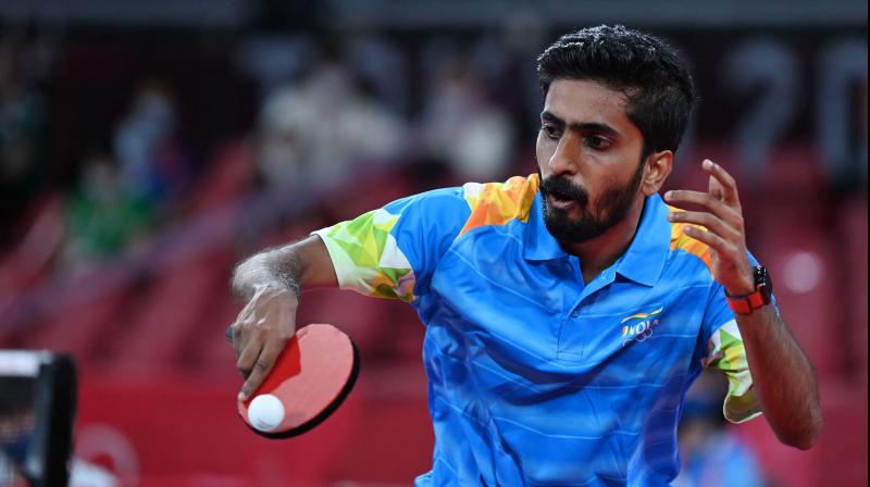
{"type": "MultiPolygon", "coordinates": [[[[749,261],[758,261],[749,254],[749,261]]],[[[775,305],[775,303],[774,303],[775,305]]],[[[734,312],[728,307],[725,291],[713,282],[704,313],[703,327],[707,332],[707,355],[704,364],[718,369],[728,377],[728,396],[722,412],[732,423],[743,423],[761,414],[761,408],[753,390],[753,375],[746,360],[746,349],[741,337],[734,312]]]]}

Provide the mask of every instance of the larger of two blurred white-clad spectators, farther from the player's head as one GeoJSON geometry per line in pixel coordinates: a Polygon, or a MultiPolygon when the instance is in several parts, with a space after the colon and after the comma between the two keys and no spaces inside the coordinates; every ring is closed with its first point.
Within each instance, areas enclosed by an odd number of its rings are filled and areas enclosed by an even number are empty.
{"type": "Polygon", "coordinates": [[[299,85],[271,93],[260,111],[257,168],[271,187],[324,187],[359,163],[384,163],[402,149],[405,125],[364,97],[347,70],[323,62],[299,85]]]}

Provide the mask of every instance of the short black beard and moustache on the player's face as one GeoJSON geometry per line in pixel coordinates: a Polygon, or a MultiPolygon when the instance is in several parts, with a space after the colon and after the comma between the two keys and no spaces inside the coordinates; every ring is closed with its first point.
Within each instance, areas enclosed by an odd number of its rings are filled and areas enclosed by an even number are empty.
{"type": "MultiPolygon", "coordinates": [[[[574,186],[568,176],[554,175],[540,182],[540,196],[544,204],[544,223],[560,244],[582,244],[592,240],[620,223],[629,214],[634,198],[641,188],[644,161],[637,164],[632,179],[624,186],[611,186],[597,201],[598,213],[589,210],[589,193],[581,186],[574,186]],[[558,195],[576,203],[580,216],[571,218],[568,211],[549,204],[548,196],[558,195]]],[[[538,175],[540,170],[538,168],[538,175]]]]}

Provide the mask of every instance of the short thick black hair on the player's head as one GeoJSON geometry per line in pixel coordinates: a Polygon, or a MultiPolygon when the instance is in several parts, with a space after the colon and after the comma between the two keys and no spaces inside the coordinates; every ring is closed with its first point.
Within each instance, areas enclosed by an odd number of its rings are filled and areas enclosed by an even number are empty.
{"type": "Polygon", "coordinates": [[[695,107],[688,64],[672,47],[622,25],[567,34],[537,59],[546,96],[556,79],[593,80],[625,95],[625,113],[644,136],[643,157],[676,151],[695,107]]]}

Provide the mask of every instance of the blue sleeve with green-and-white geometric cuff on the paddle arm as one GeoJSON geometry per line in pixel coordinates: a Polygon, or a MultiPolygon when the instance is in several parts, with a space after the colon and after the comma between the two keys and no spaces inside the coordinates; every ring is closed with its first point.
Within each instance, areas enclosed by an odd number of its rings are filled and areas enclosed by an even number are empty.
{"type": "Polygon", "coordinates": [[[341,289],[413,301],[470,215],[461,188],[396,200],[316,232],[341,289]]]}

